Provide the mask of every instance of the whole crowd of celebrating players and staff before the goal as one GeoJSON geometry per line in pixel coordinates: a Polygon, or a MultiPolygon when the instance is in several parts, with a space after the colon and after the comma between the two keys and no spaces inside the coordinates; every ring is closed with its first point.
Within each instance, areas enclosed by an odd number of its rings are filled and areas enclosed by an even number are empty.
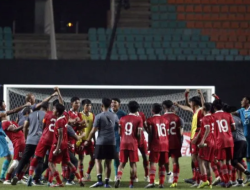
{"type": "Polygon", "coordinates": [[[129,113],[126,114],[120,109],[119,98],[103,98],[102,112],[95,116],[91,112],[91,100],[80,102],[78,97],[72,97],[71,109],[67,111],[57,87],[51,96],[37,104],[34,95],[28,94],[25,105],[10,111],[6,111],[6,105],[1,101],[0,156],[5,157],[1,181],[5,185],[42,186],[47,182],[50,187],[63,187],[63,182],[74,185],[76,178],[80,186],[84,186],[86,181],[91,181],[90,174],[95,165],[97,182],[90,187],[110,188],[113,160],[115,188],[120,187],[128,161],[129,187],[133,188],[138,181],[139,150],[144,178],[149,182],[145,188],[154,188],[156,184],[163,188],[165,182],[175,188],[180,173],[184,127],[183,119],[176,114],[175,108],[178,107],[193,113],[190,137],[193,177],[185,182],[197,188],[212,188],[218,184],[226,188],[249,185],[250,98],[244,97],[242,108],[237,110],[222,102],[217,95],[213,95],[215,100],[212,103],[205,102],[203,93],[197,92],[197,96],[189,99],[189,91],[185,91],[186,105],[171,100],[154,103],[150,118],[140,111],[136,101],[128,103],[129,113]],[[57,99],[50,105],[49,101],[54,97],[57,99]],[[79,112],[80,105],[82,112],[79,112]],[[8,115],[14,113],[18,113],[17,120],[8,120],[8,115]],[[148,134],[147,140],[144,133],[148,134]],[[6,136],[13,143],[12,162],[6,136]],[[86,173],[83,166],[85,155],[90,156],[86,173]],[[170,157],[173,172],[169,167],[170,157]],[[244,158],[247,158],[247,164],[244,158]],[[102,178],[103,160],[105,180],[102,178]],[[62,177],[57,164],[61,164],[62,177]],[[155,179],[157,165],[159,181],[155,179]],[[246,175],[245,183],[243,174],[246,175]]]}

